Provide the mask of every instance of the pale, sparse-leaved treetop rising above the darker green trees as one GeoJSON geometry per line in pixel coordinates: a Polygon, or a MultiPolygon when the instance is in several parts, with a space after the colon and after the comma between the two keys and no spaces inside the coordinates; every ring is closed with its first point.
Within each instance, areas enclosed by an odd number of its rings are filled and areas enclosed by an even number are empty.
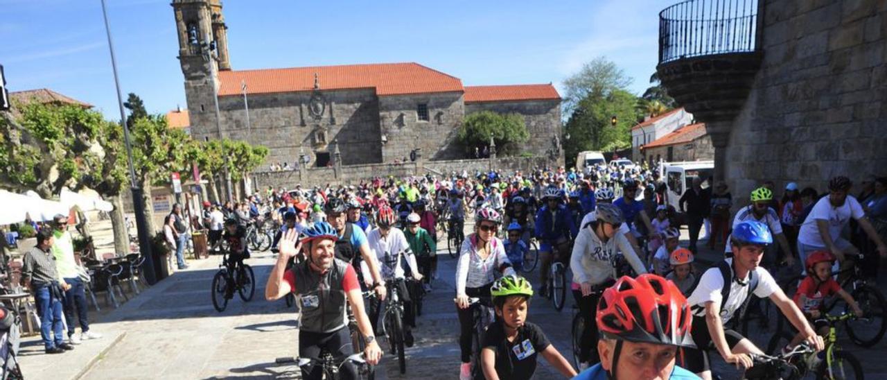
{"type": "Polygon", "coordinates": [[[605,99],[613,91],[627,90],[632,81],[632,77],[606,57],[593,59],[563,81],[563,115],[572,115],[584,99],[605,99]]]}

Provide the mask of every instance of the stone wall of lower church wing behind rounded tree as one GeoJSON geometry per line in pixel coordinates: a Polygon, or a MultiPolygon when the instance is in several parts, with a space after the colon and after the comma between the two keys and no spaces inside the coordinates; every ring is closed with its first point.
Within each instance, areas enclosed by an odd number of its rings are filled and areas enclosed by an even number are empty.
{"type": "Polygon", "coordinates": [[[480,111],[522,115],[527,123],[527,130],[530,131],[530,141],[521,147],[522,153],[545,155],[546,151],[553,146],[554,137],[561,133],[560,100],[497,101],[465,105],[465,115],[480,111]]]}

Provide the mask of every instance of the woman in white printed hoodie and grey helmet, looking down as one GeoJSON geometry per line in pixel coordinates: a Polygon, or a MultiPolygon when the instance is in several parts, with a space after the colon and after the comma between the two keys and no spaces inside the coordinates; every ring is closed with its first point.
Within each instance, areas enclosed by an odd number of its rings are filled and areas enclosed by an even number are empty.
{"type": "Polygon", "coordinates": [[[594,310],[600,299],[600,292],[616,279],[616,252],[622,252],[635,273],[647,273],[643,262],[632,245],[619,233],[624,223],[622,211],[608,203],[598,204],[595,220],[579,231],[569,258],[573,271],[573,297],[579,306],[579,313],[585,316],[585,329],[579,351],[579,370],[588,368],[600,361],[597,350],[593,350],[598,336],[594,322],[594,310]]]}

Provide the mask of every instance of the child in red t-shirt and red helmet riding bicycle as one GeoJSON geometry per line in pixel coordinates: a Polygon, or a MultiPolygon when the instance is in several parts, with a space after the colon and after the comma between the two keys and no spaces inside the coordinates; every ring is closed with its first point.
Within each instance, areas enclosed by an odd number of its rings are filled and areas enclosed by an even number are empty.
{"type": "MultiPolygon", "coordinates": [[[[832,278],[832,265],[835,264],[835,256],[828,250],[817,250],[807,257],[805,267],[807,269],[807,277],[801,284],[797,286],[795,304],[801,312],[807,317],[807,321],[813,326],[820,336],[828,334],[828,321],[822,319],[823,310],[822,300],[835,294],[844,298],[847,305],[851,305],[853,313],[858,317],[862,316],[862,309],[856,303],[856,300],[841,288],[841,284],[832,278]]],[[[801,343],[804,336],[796,335],[789,343],[789,348],[801,343]]]]}

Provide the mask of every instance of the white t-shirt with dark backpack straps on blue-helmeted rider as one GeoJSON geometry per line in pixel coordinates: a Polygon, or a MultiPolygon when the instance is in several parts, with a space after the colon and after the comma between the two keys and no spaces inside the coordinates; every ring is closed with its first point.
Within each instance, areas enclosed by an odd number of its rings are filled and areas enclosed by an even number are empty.
{"type": "MultiPolygon", "coordinates": [[[[726,262],[733,270],[733,258],[727,258],[726,262]]],[[[770,297],[779,285],[773,280],[773,276],[761,266],[755,268],[757,273],[757,288],[755,288],[755,296],[760,298],[770,297]]],[[[735,273],[731,276],[735,279],[735,273]]],[[[748,281],[748,277],[745,279],[748,281]]],[[[721,299],[721,289],[724,288],[724,277],[720,273],[718,266],[712,266],[703,273],[703,277],[699,279],[699,285],[693,290],[693,294],[687,297],[687,304],[692,308],[693,315],[702,317],[705,315],[705,304],[709,301],[724,303],[721,307],[721,320],[726,323],[733,318],[734,313],[745,302],[745,298],[749,297],[749,286],[741,285],[735,280],[730,285],[730,296],[726,301],[721,299]]]]}

